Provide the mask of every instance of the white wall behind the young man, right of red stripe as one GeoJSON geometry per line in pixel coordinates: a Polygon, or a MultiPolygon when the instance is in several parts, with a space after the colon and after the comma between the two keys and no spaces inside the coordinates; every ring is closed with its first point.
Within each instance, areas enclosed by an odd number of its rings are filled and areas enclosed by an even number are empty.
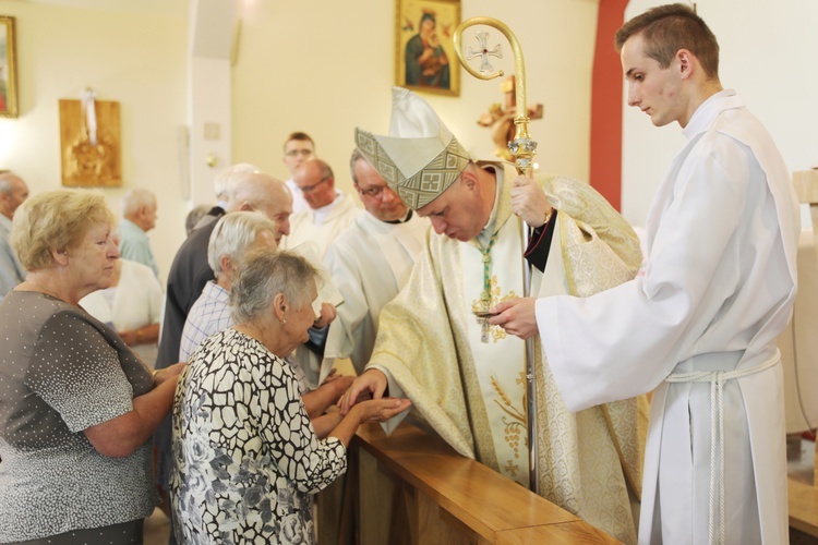
{"type": "MultiPolygon", "coordinates": [[[[662,2],[631,0],[626,19],[662,2]]],[[[790,170],[818,166],[818,2],[697,2],[721,49],[720,78],[767,126],[790,170]],[[741,12],[741,13],[739,13],[741,12]]],[[[643,225],[671,159],[684,146],[678,124],[654,128],[637,108],[623,120],[623,215],[643,225]]]]}

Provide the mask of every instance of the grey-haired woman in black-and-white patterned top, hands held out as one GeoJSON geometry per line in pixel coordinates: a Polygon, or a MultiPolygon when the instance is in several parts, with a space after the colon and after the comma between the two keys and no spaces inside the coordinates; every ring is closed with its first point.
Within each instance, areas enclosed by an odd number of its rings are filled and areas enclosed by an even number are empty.
{"type": "Polygon", "coordinates": [[[171,508],[182,543],[313,543],[310,496],[347,468],[362,422],[408,400],[369,400],[320,440],[282,360],[315,318],[317,270],[269,249],[245,256],[230,290],[237,325],[191,355],[173,400],[171,508]]]}

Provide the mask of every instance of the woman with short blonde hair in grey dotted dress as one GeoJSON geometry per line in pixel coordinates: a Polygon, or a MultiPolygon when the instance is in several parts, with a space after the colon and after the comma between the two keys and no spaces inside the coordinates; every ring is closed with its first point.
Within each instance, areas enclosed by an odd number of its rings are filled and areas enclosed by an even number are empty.
{"type": "Polygon", "coordinates": [[[77,305],[119,252],[97,192],[35,195],[14,216],[28,270],[0,304],[0,542],[142,543],[151,434],[179,366],[151,371],[77,305]]]}

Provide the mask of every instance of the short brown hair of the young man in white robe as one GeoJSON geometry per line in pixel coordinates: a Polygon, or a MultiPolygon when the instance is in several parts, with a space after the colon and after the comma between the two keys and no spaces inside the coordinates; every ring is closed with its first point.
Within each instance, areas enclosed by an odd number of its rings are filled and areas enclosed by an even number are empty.
{"type": "Polygon", "coordinates": [[[616,51],[622,52],[625,43],[637,35],[645,39],[645,55],[661,68],[670,66],[679,49],[687,49],[699,60],[709,78],[719,78],[719,43],[689,5],[659,5],[635,16],[616,31],[616,51]]]}

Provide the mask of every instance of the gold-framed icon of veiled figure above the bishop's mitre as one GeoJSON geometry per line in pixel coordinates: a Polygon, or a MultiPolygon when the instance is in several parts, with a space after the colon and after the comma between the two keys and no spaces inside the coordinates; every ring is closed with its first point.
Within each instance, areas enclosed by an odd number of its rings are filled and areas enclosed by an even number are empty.
{"type": "Polygon", "coordinates": [[[460,95],[455,28],[460,0],[396,0],[395,83],[424,93],[460,95]]]}

